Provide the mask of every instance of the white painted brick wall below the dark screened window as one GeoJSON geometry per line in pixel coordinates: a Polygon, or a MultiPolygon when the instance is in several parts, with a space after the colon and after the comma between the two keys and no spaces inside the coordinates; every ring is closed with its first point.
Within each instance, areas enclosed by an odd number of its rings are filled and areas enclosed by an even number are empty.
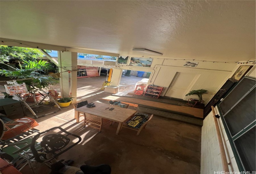
{"type": "MultiPolygon", "coordinates": [[[[215,107],[215,112],[216,114],[219,113],[217,107],[215,107]]],[[[218,123],[222,133],[222,141],[224,143],[227,162],[231,163],[228,165],[229,170],[230,172],[239,172],[221,118],[218,119],[218,123]]],[[[201,136],[201,174],[214,174],[214,172],[223,171],[218,137],[212,112],[210,112],[204,119],[201,136]]]]}

